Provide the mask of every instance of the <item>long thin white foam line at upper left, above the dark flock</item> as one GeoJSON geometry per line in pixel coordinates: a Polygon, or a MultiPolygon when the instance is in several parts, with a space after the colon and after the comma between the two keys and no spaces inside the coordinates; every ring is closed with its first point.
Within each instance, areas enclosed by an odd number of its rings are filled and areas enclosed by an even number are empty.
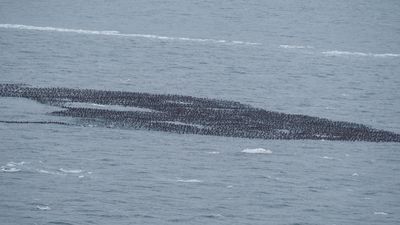
{"type": "Polygon", "coordinates": [[[168,37],[153,34],[124,34],[119,31],[97,31],[97,30],[83,30],[83,29],[70,29],[70,28],[59,28],[59,27],[39,27],[30,26],[23,24],[0,24],[0,28],[5,29],[20,29],[20,30],[35,30],[35,31],[52,31],[52,32],[66,32],[66,33],[78,33],[78,34],[90,34],[90,35],[107,35],[107,36],[119,36],[119,37],[130,37],[130,38],[147,38],[167,41],[188,41],[188,42],[206,42],[216,44],[234,44],[234,45],[260,45],[257,42],[247,41],[228,41],[228,40],[217,40],[217,39],[202,39],[202,38],[189,38],[189,37],[168,37]]]}

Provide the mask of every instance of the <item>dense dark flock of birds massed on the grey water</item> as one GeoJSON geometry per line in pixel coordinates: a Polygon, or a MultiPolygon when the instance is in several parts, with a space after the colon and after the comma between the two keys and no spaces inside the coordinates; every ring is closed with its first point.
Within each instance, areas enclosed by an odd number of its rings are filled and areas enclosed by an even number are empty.
{"type": "MultiPolygon", "coordinates": [[[[59,106],[62,110],[52,112],[53,115],[80,118],[86,123],[109,127],[242,138],[400,142],[399,134],[362,124],[271,112],[239,102],[191,96],[36,88],[20,84],[0,84],[0,96],[28,98],[59,106]],[[89,107],[90,104],[125,106],[127,110],[94,108],[89,107]],[[146,110],[128,110],[129,107],[146,110]]],[[[36,123],[65,125],[62,122],[36,123]]]]}

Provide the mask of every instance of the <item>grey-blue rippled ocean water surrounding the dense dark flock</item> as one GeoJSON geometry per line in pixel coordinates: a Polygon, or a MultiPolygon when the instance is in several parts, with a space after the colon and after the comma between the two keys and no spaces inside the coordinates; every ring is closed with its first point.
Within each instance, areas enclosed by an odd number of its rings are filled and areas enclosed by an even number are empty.
{"type": "MultiPolygon", "coordinates": [[[[0,83],[400,132],[399,1],[0,2],[0,83]]],[[[1,120],[68,121],[0,98],[1,120]]],[[[399,224],[400,145],[0,124],[0,224],[399,224]]]]}

